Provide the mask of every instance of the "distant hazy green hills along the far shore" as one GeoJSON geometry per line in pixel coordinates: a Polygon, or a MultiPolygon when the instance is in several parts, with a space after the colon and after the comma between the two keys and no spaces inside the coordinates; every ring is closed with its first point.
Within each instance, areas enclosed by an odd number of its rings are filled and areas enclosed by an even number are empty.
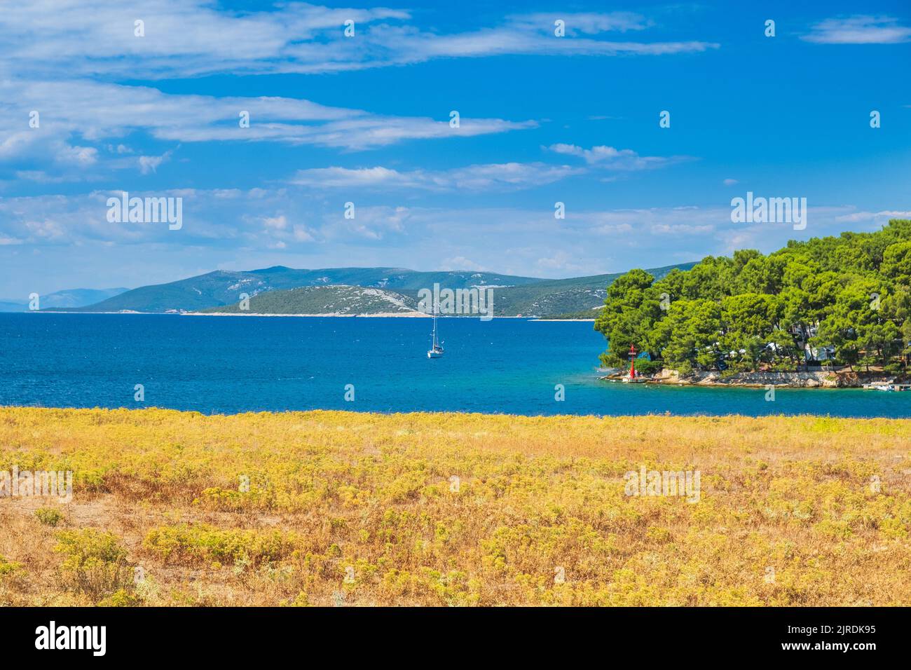
{"type": "MultiPolygon", "coordinates": [[[[694,263],[653,268],[663,277],[694,263]]],[[[177,282],[140,286],[92,304],[46,304],[42,309],[97,313],[200,313],[371,315],[417,312],[418,293],[440,284],[453,290],[493,289],[495,316],[541,317],[591,310],[604,304],[607,287],[622,273],[570,279],[510,274],[404,268],[323,268],[296,270],[275,266],[249,272],[219,270],[177,282]],[[241,310],[241,301],[247,309],[241,310]]],[[[15,311],[23,311],[19,306],[15,311]]]]}

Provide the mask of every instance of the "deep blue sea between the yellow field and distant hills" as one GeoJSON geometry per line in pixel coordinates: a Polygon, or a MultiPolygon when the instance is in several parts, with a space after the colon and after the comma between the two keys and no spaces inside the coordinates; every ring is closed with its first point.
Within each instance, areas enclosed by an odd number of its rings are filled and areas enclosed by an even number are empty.
{"type": "Polygon", "coordinates": [[[439,327],[445,356],[429,360],[431,322],[421,318],[0,314],[0,406],[911,416],[911,393],[777,389],[767,402],[763,389],[601,381],[605,342],[591,323],[439,327]]]}

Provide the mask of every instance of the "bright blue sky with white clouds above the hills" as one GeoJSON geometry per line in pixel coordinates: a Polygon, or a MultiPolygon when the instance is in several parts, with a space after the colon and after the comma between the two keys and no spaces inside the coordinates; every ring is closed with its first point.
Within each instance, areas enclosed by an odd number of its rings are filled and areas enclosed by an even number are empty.
{"type": "Polygon", "coordinates": [[[0,45],[3,298],[274,264],[567,277],[911,217],[906,2],[39,0],[0,45]],[[183,198],[183,227],[107,222],[121,191],[183,198]],[[746,191],[805,197],[806,229],[732,223],[746,191]]]}

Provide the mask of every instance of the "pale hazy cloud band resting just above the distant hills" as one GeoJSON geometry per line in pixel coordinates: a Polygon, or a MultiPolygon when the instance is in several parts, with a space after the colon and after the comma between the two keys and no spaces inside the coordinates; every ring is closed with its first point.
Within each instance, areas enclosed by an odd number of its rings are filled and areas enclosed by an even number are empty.
{"type": "Polygon", "coordinates": [[[349,220],[343,198],[304,190],[130,191],[139,197],[184,198],[183,228],[169,231],[162,224],[107,222],[110,195],[119,193],[0,199],[0,266],[9,277],[5,293],[30,291],[28,284],[40,283],[38,276],[46,273],[58,285],[40,290],[84,283],[80,273],[86,267],[107,277],[105,283],[141,285],[228,262],[236,269],[416,265],[419,270],[444,266],[578,276],[659,267],[742,248],[767,253],[789,239],[876,230],[889,218],[911,215],[811,207],[807,229],[796,232],[789,224],[732,223],[726,201],[622,210],[574,207],[565,220],[555,220],[545,202],[526,208],[358,205],[349,220]],[[74,249],[80,254],[75,265],[74,249]]]}

